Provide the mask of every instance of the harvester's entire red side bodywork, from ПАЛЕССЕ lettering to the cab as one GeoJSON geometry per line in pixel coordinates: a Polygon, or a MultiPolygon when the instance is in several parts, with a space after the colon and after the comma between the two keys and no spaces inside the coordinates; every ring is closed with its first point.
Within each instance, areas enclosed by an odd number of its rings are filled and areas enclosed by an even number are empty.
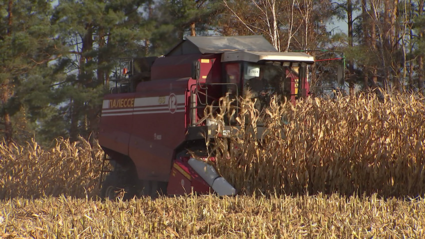
{"type": "MultiPolygon", "coordinates": [[[[201,63],[200,83],[220,80],[220,54],[202,55],[201,59],[200,56],[159,57],[151,67],[152,80],[140,82],[136,92],[109,94],[104,98],[100,145],[128,155],[140,179],[168,181],[174,150],[185,139],[190,115],[188,89],[196,87],[196,80],[190,78],[193,60],[201,63]],[[131,98],[131,105],[108,104],[127,98],[131,98]]],[[[216,98],[220,95],[214,90],[208,93],[216,98]]]]}

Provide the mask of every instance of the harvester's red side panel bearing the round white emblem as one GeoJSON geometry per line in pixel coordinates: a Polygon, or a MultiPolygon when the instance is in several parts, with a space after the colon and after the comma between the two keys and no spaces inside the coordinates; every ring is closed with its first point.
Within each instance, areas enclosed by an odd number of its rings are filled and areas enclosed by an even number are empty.
{"type": "Polygon", "coordinates": [[[174,149],[185,136],[187,81],[156,80],[137,86],[128,147],[139,178],[168,180],[174,149]]]}

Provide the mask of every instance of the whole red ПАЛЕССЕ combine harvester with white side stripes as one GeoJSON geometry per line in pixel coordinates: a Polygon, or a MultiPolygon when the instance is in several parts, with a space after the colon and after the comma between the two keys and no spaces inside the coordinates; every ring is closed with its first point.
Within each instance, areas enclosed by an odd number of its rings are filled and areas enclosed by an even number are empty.
{"type": "Polygon", "coordinates": [[[217,133],[199,120],[204,107],[247,89],[258,110],[270,94],[305,97],[306,65],[313,62],[307,53],[276,51],[262,36],[188,36],[164,56],[128,60],[125,81],[103,99],[98,137],[114,169],[101,196],[114,198],[120,189],[127,198],[235,194],[212,166],[188,154],[205,156],[205,137],[217,133]]]}

